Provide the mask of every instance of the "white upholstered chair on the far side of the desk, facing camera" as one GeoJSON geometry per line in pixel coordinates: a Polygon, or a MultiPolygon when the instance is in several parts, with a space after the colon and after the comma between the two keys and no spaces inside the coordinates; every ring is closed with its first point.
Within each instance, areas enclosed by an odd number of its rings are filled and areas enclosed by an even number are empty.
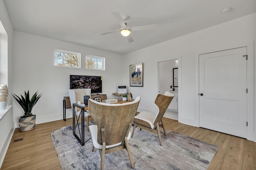
{"type": "MultiPolygon", "coordinates": [[[[77,103],[78,101],[84,102],[84,96],[91,96],[91,89],[90,88],[82,88],[82,89],[70,89],[68,90],[69,98],[70,98],[70,104],[73,110],[73,103],[77,103]]],[[[79,115],[81,110],[76,107],[76,114],[79,115]]],[[[90,113],[87,111],[84,111],[84,117],[86,118],[86,126],[87,131],[89,131],[89,121],[93,121],[92,117],[90,116],[90,113]]]]}

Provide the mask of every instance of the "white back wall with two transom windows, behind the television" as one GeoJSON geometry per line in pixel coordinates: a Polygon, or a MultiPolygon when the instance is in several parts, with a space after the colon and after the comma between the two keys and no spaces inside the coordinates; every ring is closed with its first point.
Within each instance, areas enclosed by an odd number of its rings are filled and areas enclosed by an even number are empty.
{"type": "MultiPolygon", "coordinates": [[[[102,76],[102,91],[108,98],[114,98],[112,93],[122,84],[120,55],[19,31],[14,31],[14,61],[14,94],[24,95],[24,90],[30,90],[30,94],[43,92],[32,110],[37,124],[62,119],[62,100],[68,96],[70,75],[102,76]],[[81,53],[81,68],[53,66],[54,49],[81,53]],[[85,69],[85,55],[105,57],[106,70],[85,69]]],[[[67,118],[72,117],[70,112],[67,118]]],[[[23,113],[14,102],[15,127],[23,113]]]]}

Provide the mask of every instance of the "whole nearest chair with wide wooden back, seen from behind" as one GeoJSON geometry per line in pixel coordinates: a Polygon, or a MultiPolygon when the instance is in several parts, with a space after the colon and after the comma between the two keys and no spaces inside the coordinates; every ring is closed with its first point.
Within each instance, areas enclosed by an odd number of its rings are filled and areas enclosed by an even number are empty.
{"type": "Polygon", "coordinates": [[[96,123],[89,126],[92,151],[96,148],[100,152],[101,170],[104,169],[105,154],[121,149],[127,150],[131,166],[134,168],[128,140],[139,102],[140,97],[123,104],[106,104],[92,99],[88,101],[89,112],[96,123]]]}

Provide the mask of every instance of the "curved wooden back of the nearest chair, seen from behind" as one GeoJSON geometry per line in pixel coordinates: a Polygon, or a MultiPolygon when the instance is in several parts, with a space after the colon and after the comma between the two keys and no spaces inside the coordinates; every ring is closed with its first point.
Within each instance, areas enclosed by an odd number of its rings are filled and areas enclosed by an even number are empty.
{"type": "Polygon", "coordinates": [[[133,102],[106,104],[90,99],[88,110],[98,126],[97,141],[102,145],[102,131],[105,129],[106,145],[124,142],[128,136],[132,121],[138,109],[140,96],[133,102]]]}

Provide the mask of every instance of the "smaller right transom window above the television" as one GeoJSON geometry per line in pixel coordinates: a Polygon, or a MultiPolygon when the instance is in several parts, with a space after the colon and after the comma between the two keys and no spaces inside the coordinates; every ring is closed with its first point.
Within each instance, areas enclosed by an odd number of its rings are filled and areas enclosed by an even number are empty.
{"type": "Polygon", "coordinates": [[[85,68],[95,69],[95,70],[105,70],[105,58],[86,55],[85,68]]]}

